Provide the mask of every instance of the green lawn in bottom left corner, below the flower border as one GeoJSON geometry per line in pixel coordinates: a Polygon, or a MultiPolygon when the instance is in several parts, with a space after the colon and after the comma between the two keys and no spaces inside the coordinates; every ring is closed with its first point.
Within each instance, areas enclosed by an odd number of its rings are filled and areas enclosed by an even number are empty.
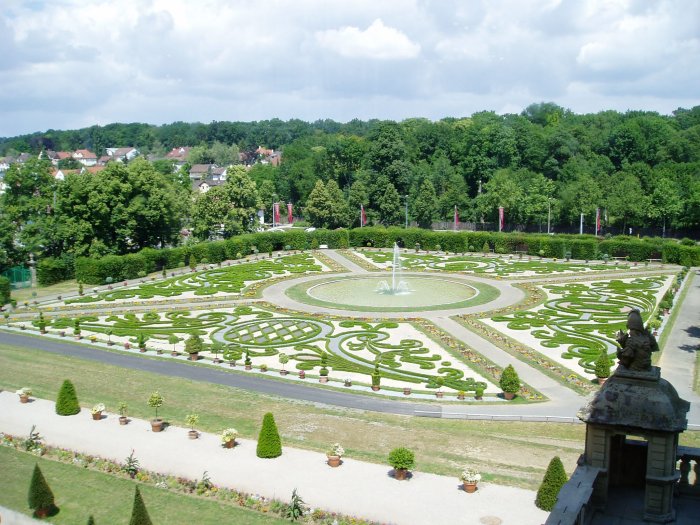
{"type": "MultiPolygon", "coordinates": [[[[129,523],[136,482],[39,458],[9,447],[0,447],[0,505],[31,514],[27,507],[27,492],[35,463],[39,463],[60,509],[50,518],[52,523],[87,523],[90,514],[97,525],[129,523]]],[[[153,523],[285,523],[278,518],[211,499],[142,484],[139,484],[139,490],[153,523]]]]}

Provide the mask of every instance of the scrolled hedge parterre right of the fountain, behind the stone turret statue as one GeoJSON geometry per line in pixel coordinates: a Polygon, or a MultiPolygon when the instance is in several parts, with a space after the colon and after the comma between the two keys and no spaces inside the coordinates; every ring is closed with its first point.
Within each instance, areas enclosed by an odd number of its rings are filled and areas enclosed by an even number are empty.
{"type": "Polygon", "coordinates": [[[668,276],[613,279],[590,284],[547,285],[541,308],[492,318],[511,330],[529,330],[543,348],[561,348],[564,359],[577,359],[594,373],[595,360],[616,348],[615,334],[626,330],[627,312],[636,308],[648,319],[668,276]]]}

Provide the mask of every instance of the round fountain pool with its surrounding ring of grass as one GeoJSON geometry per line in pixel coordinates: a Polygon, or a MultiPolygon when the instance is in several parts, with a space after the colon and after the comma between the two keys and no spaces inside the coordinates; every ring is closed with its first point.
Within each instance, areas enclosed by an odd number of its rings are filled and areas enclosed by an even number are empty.
{"type": "Polygon", "coordinates": [[[449,276],[402,275],[400,293],[382,293],[386,275],[332,277],[290,287],[287,295],[299,302],[355,311],[412,312],[447,310],[483,304],[499,295],[494,287],[449,276]]]}

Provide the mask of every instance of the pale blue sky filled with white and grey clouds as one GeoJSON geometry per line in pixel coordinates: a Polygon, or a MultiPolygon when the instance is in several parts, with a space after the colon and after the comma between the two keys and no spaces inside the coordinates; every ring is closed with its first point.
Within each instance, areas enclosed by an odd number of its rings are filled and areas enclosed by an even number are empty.
{"type": "Polygon", "coordinates": [[[0,136],[110,122],[670,113],[697,0],[0,0],[0,136]]]}

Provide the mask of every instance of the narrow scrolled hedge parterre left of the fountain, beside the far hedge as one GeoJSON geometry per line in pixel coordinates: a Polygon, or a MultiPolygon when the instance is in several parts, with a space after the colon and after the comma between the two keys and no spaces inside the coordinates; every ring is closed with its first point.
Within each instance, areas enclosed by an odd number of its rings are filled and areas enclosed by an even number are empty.
{"type": "Polygon", "coordinates": [[[193,292],[196,296],[214,295],[219,292],[238,294],[250,282],[263,281],[272,277],[290,274],[320,271],[322,271],[322,267],[311,255],[287,255],[276,259],[265,259],[192,272],[157,282],[144,283],[134,288],[109,290],[95,295],[68,300],[66,303],[176,297],[187,292],[193,292]]]}

